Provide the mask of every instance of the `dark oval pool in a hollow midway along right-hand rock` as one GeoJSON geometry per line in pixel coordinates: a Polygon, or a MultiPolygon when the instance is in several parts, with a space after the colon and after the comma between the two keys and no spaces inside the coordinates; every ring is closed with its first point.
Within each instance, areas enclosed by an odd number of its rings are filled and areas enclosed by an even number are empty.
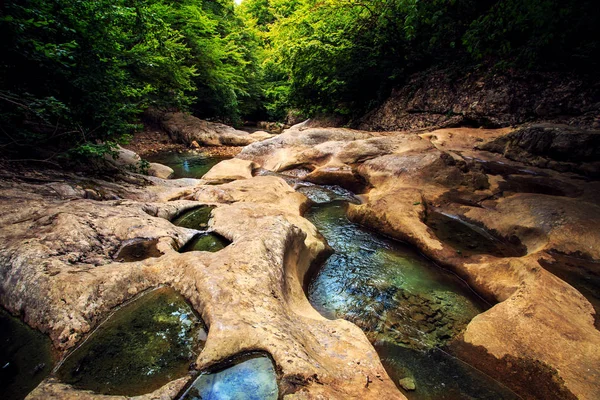
{"type": "Polygon", "coordinates": [[[520,242],[509,243],[456,215],[428,210],[425,224],[438,239],[465,256],[490,254],[496,257],[521,257],[527,254],[527,248],[520,242]]]}

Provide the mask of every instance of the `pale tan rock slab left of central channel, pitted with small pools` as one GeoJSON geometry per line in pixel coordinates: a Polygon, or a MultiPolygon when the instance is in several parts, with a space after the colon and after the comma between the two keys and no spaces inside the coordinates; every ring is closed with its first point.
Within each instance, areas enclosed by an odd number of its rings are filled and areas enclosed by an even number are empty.
{"type": "MultiPolygon", "coordinates": [[[[281,393],[405,399],[364,333],[350,322],[323,318],[306,300],[304,276],[327,246],[301,216],[308,202],[303,195],[273,176],[219,186],[198,180],[145,182],[144,187],[119,183],[117,190],[116,183],[96,180],[96,190],[123,197],[97,202],[64,201],[45,184],[2,180],[0,304],[48,334],[57,351],[67,351],[115,307],[166,285],[210,326],[195,360],[198,370],[260,349],[276,365],[281,393]],[[174,200],[183,197],[187,200],[174,200]],[[233,243],[218,253],[179,253],[196,231],[170,219],[203,204],[216,207],[210,228],[233,243]],[[115,262],[111,256],[135,238],[157,238],[162,256],[115,262]],[[365,388],[365,376],[379,379],[365,388]]],[[[174,398],[188,380],[140,398],[174,398]]],[[[47,398],[115,397],[48,378],[28,399],[47,398]]]]}

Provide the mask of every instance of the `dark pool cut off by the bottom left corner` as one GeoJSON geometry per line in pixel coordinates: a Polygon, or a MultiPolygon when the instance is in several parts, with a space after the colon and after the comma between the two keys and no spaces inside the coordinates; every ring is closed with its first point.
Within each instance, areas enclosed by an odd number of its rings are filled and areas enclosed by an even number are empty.
{"type": "Polygon", "coordinates": [[[53,363],[50,339],[0,308],[0,398],[24,399],[53,363]]]}

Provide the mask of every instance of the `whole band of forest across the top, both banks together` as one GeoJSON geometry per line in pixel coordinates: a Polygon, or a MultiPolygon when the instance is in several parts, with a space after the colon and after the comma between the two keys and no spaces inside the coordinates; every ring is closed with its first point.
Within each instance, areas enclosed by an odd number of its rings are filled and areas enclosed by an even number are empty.
{"type": "Polygon", "coordinates": [[[0,146],[101,156],[149,107],[233,125],[357,118],[407,77],[599,75],[595,0],[17,0],[0,6],[0,146]]]}

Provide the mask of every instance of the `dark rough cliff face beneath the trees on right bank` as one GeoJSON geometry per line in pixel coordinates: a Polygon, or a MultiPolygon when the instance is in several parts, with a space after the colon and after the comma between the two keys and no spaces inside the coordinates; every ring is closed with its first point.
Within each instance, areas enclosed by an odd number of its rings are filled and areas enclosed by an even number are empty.
{"type": "Polygon", "coordinates": [[[504,127],[533,121],[600,127],[598,81],[553,73],[432,69],[409,78],[358,128],[504,127]]]}

